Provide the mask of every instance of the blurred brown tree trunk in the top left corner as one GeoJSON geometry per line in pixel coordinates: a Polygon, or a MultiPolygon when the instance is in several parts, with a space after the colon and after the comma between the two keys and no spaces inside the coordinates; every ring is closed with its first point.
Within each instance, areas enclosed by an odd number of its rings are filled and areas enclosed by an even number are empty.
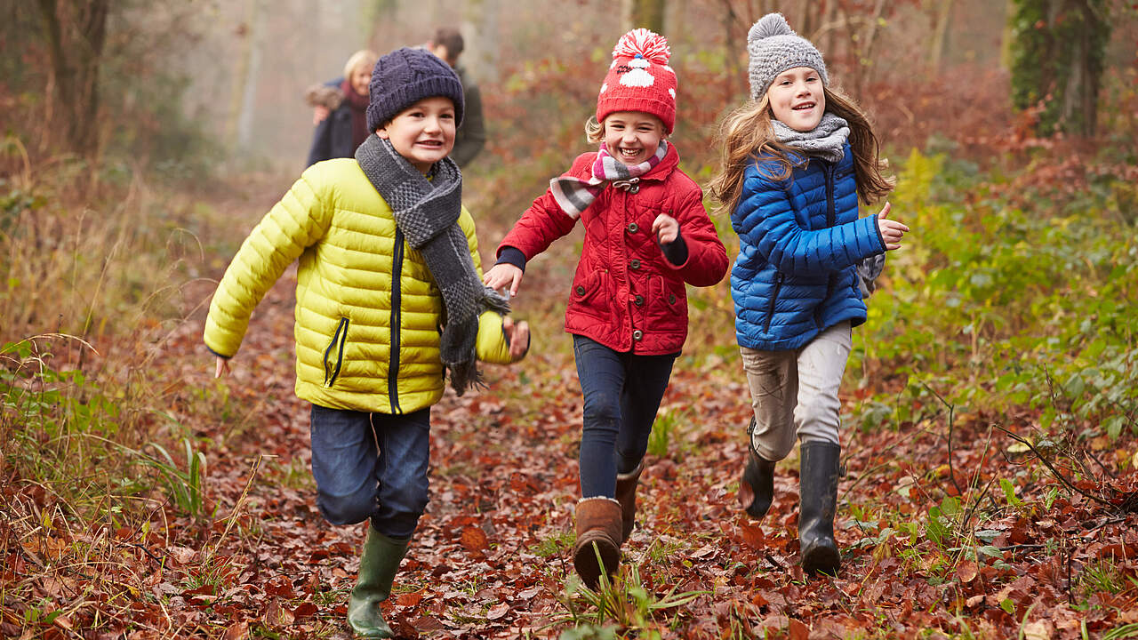
{"type": "Polygon", "coordinates": [[[98,153],[99,68],[107,40],[110,0],[39,0],[48,38],[52,82],[51,122],[64,147],[98,153]]]}

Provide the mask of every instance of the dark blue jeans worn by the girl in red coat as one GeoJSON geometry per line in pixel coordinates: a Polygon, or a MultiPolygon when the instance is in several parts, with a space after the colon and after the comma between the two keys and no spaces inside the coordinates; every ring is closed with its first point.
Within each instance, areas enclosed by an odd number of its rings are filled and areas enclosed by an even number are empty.
{"type": "Polygon", "coordinates": [[[620,353],[576,335],[572,351],[585,396],[580,495],[615,498],[617,473],[635,469],[648,451],[652,422],[678,353],[620,353]]]}

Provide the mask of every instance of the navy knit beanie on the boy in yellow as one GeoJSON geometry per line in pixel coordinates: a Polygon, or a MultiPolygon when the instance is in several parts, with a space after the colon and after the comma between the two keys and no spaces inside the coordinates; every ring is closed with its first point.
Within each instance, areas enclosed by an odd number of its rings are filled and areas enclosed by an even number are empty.
{"type": "Polygon", "coordinates": [[[462,124],[462,82],[451,65],[426,49],[403,47],[381,57],[368,89],[369,133],[419,100],[435,96],[454,101],[454,124],[462,124]]]}

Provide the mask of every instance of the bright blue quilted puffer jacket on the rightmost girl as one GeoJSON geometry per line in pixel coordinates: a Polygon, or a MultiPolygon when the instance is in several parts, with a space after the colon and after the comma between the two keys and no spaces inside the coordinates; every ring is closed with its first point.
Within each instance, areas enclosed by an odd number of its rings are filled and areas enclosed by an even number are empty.
{"type": "Polygon", "coordinates": [[[811,157],[786,180],[770,178],[778,172],[769,158],[748,167],[731,215],[740,239],[731,271],[735,335],[762,351],[798,348],[844,320],[865,322],[853,265],[885,252],[874,216],[858,218],[848,143],[836,164],[811,157]]]}

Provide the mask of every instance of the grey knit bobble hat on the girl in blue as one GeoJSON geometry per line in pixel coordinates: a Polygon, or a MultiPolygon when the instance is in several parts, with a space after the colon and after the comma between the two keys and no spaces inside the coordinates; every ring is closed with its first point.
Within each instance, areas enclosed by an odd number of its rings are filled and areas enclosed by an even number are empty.
{"type": "Polygon", "coordinates": [[[747,34],[747,52],[751,56],[748,73],[751,77],[751,98],[758,99],[775,77],[794,67],[810,67],[828,85],[826,63],[810,41],[791,31],[782,14],[767,14],[751,26],[747,34]]]}

